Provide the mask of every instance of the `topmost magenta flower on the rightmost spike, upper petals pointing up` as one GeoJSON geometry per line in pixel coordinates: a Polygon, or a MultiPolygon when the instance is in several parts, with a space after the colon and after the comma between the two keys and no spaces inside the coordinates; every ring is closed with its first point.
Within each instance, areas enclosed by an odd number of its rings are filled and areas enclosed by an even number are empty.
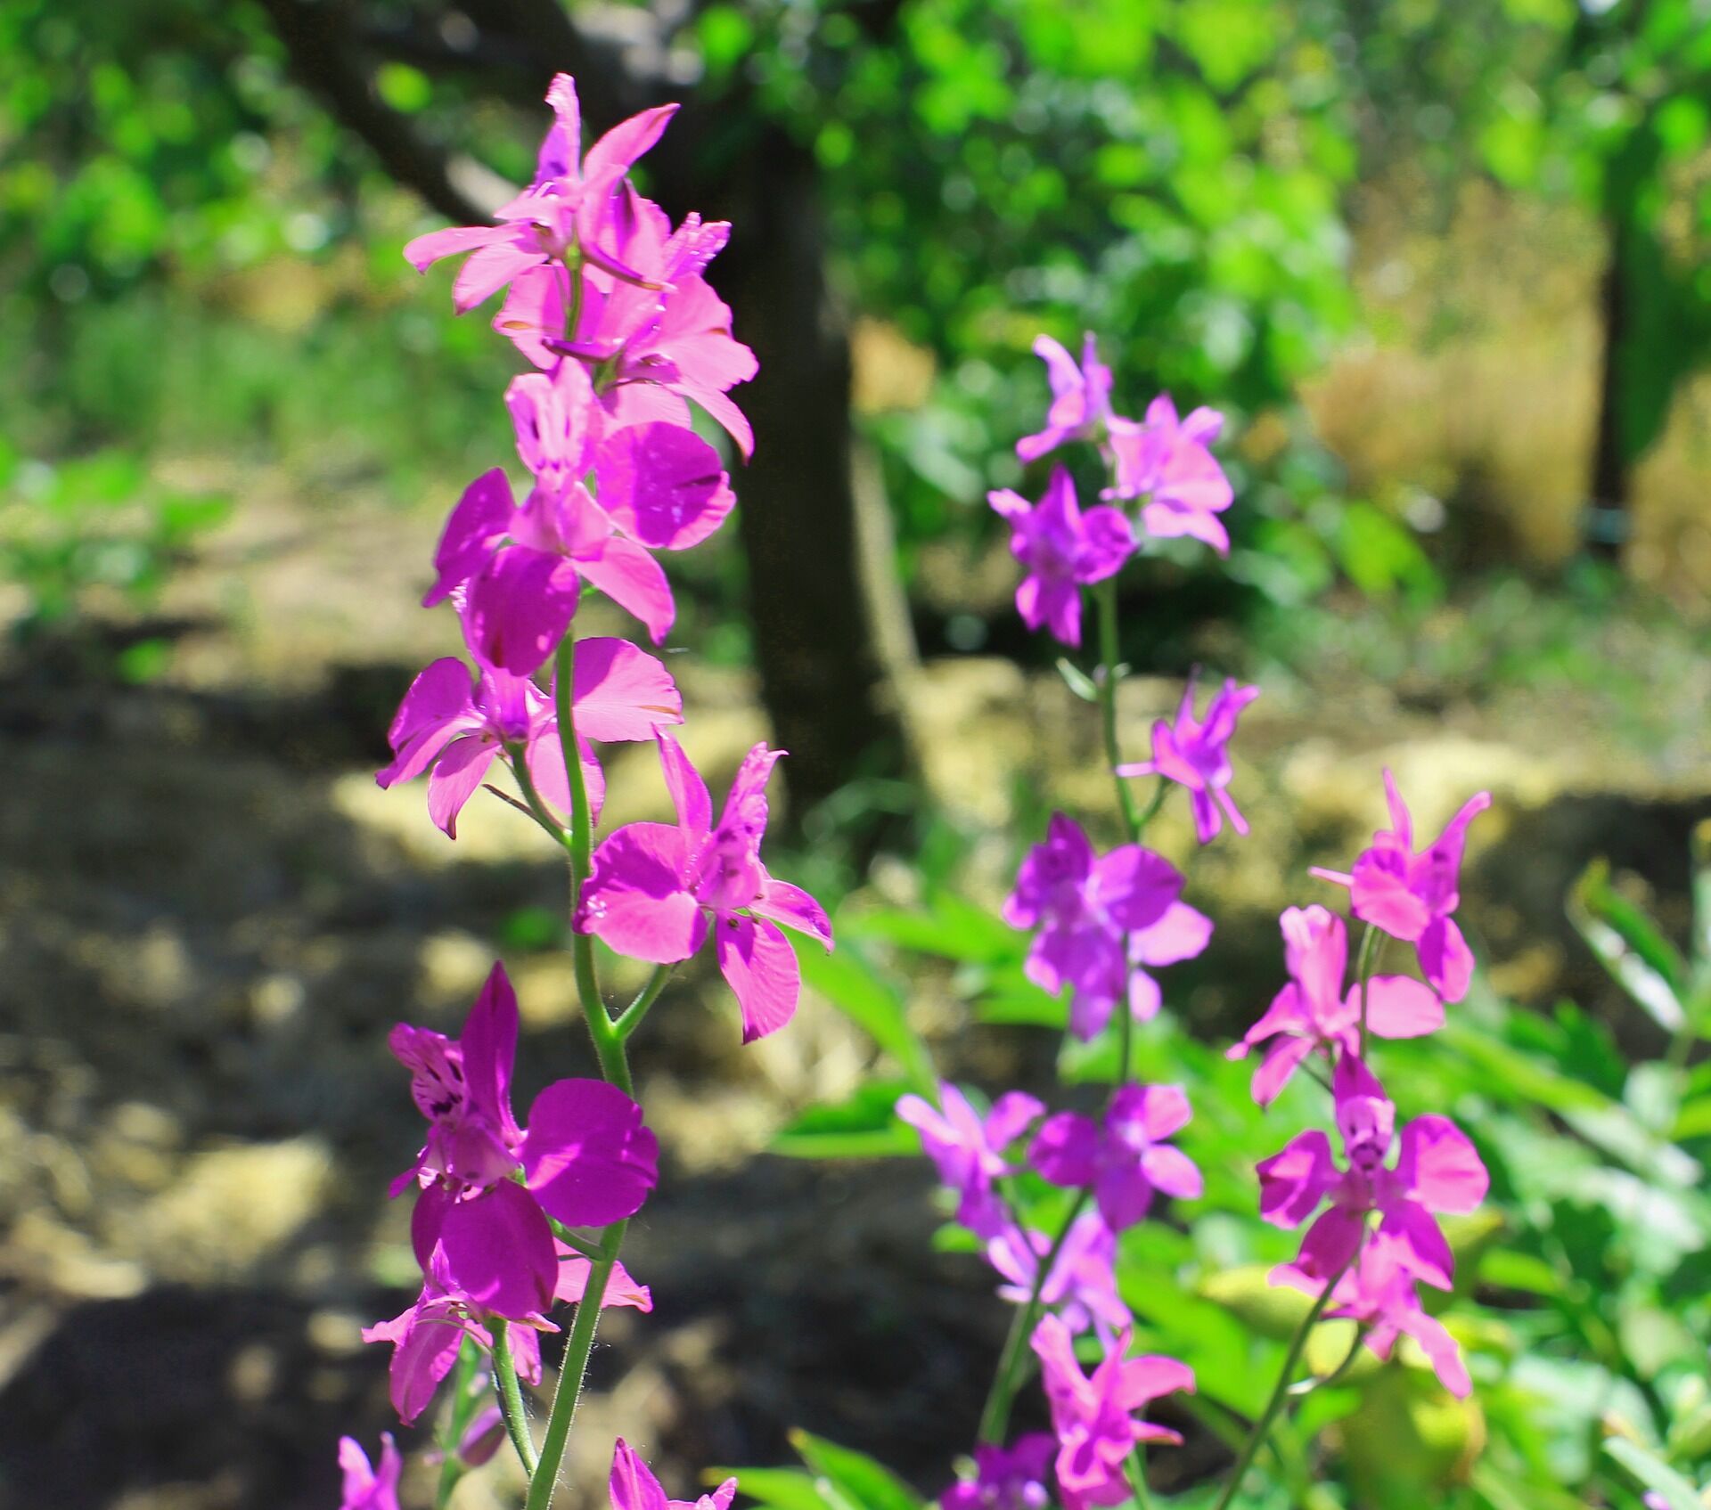
{"type": "Polygon", "coordinates": [[[1461,937],[1451,913],[1461,903],[1461,846],[1468,824],[1492,805],[1490,792],[1475,792],[1437,841],[1413,853],[1413,823],[1408,804],[1396,790],[1396,778],[1384,773],[1391,828],[1372,835],[1372,843],[1355,860],[1355,869],[1312,874],[1350,891],[1350,911],[1382,929],[1393,939],[1413,944],[1420,973],[1446,1002],[1459,1002],[1473,978],[1473,951],[1461,937]]]}

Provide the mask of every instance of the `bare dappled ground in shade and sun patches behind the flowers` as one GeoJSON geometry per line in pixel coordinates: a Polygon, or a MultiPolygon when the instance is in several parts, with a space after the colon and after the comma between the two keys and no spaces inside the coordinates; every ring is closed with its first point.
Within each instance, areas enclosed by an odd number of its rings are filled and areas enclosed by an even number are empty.
{"type": "MultiPolygon", "coordinates": [[[[520,1101],[589,1071],[568,971],[532,947],[563,898],[532,829],[479,799],[450,845],[419,792],[371,783],[407,675],[452,648],[447,616],[409,607],[431,523],[356,499],[332,530],[262,504],[175,587],[163,682],[103,684],[46,650],[0,675],[5,1510],[334,1503],[335,1436],[388,1424],[385,1358],[358,1327],[414,1288],[406,1212],[378,1199],[419,1137],[387,1026],[455,1029],[500,949],[525,1014],[520,1101]]],[[[1309,855],[1347,857],[1381,817],[1384,763],[1422,826],[1495,790],[1465,915],[1501,988],[1619,1011],[1560,913],[1595,853],[1644,872],[1684,922],[1685,824],[1711,812],[1699,646],[1685,631],[1624,641],[1612,621],[1600,664],[1634,706],[1665,710],[1636,723],[1596,669],[1475,686],[1434,670],[1425,641],[1453,629],[1420,629],[1401,646],[1410,674],[1386,677],[1362,643],[1381,631],[1333,617],[1311,665],[1263,675],[1237,785],[1254,835],[1191,877],[1220,935],[1177,1000],[1208,1031],[1270,995],[1276,908],[1305,894],[1309,855]]],[[[717,787],[763,732],[748,682],[691,657],[672,669],[717,787]]],[[[1175,694],[1126,689],[1129,747],[1175,694]]],[[[936,800],[989,833],[972,889],[1003,884],[996,824],[1107,809],[1092,711],[1056,677],[943,662],[910,705],[936,800]]],[[[645,752],[619,754],[609,788],[614,814],[660,802],[645,752]]],[[[1179,824],[1163,845],[1186,855],[1179,824]]],[[[881,888],[907,894],[909,877],[888,867],[881,888]]],[[[943,1007],[922,983],[924,1021],[955,1021],[943,1007]]],[[[1020,1041],[987,1045],[987,1062],[1020,1041]]],[[[666,1177],[626,1250],[657,1310],[602,1334],[575,1448],[583,1503],[616,1430],[678,1493],[708,1462],[782,1460],[794,1424],[881,1450],[924,1488],[944,1478],[1004,1317],[972,1264],[927,1250],[926,1171],[761,1153],[789,1110],[861,1067],[813,1000],[751,1050],[717,978],[691,971],[657,1009],[638,1081],[666,1177]]]]}

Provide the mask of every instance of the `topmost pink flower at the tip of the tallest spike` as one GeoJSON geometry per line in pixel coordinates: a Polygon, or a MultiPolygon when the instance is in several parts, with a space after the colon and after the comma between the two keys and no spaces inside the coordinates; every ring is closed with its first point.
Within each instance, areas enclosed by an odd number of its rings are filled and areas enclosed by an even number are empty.
{"type": "Polygon", "coordinates": [[[662,104],[613,127],[582,157],[577,84],[556,74],[546,103],[556,116],[541,144],[534,183],[494,214],[498,226],[457,226],[417,236],[404,257],[426,272],[443,257],[474,253],[452,284],[459,315],[508,282],[548,262],[587,258],[621,279],[645,280],[611,250],[611,217],[619,181],[666,130],[678,106],[662,104]],[[578,161],[580,159],[580,161],[578,161]]]}

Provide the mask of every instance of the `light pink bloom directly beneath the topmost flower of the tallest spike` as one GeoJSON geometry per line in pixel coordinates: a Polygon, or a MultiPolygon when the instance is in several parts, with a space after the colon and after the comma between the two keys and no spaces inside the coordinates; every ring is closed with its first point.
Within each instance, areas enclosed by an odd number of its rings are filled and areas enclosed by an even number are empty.
{"type": "Polygon", "coordinates": [[[666,421],[688,428],[693,398],[748,457],[755,434],[727,390],[755,376],[756,363],[731,333],[731,310],[705,277],[731,226],[688,215],[672,231],[664,210],[628,183],[613,215],[623,262],[647,286],[587,268],[577,330],[565,335],[573,274],[549,265],[512,286],[494,328],[542,368],[559,356],[587,364],[601,404],[618,424],[666,421]]]}

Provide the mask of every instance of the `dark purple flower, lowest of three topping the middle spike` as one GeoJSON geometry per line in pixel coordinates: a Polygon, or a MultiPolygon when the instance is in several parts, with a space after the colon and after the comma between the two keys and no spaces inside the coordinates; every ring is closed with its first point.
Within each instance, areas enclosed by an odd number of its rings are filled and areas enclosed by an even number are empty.
{"type": "Polygon", "coordinates": [[[1009,520],[1009,554],[1028,569],[1016,588],[1021,621],[1030,629],[1047,626],[1064,645],[1080,645],[1081,587],[1114,576],[1134,552],[1129,522],[1116,508],[1081,513],[1063,467],[1037,504],[1008,487],[986,501],[1009,520]]]}

